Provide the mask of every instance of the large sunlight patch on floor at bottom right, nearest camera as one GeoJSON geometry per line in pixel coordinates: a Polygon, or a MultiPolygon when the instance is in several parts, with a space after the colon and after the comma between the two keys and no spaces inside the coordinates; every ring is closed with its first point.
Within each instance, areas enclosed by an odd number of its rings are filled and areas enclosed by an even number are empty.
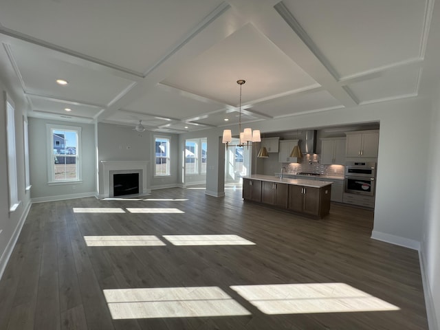
{"type": "Polygon", "coordinates": [[[345,283],[232,285],[230,288],[265,314],[399,310],[345,283]]]}

